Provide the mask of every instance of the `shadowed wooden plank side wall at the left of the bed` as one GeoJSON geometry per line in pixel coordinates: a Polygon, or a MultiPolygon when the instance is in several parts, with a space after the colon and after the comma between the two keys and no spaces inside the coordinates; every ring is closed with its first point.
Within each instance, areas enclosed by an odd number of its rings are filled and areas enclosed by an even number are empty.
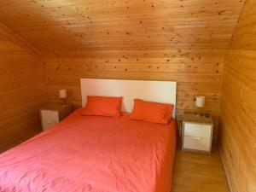
{"type": "Polygon", "coordinates": [[[41,128],[38,108],[47,100],[44,64],[0,28],[0,151],[41,128]]]}

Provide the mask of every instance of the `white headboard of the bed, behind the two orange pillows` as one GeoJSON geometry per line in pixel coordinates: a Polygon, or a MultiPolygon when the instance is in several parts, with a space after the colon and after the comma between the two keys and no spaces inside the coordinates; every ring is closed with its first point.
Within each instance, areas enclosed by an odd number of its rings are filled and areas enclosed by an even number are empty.
{"type": "Polygon", "coordinates": [[[131,112],[133,99],[174,105],[175,118],[177,82],[120,79],[81,79],[82,106],[87,96],[123,96],[122,111],[131,112]]]}

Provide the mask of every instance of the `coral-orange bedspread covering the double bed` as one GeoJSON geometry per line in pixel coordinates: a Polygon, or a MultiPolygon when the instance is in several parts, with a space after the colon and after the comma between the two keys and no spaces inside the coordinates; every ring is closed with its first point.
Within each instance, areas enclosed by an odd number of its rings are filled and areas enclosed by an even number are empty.
{"type": "Polygon", "coordinates": [[[169,192],[175,120],[80,113],[0,154],[0,191],[169,192]]]}

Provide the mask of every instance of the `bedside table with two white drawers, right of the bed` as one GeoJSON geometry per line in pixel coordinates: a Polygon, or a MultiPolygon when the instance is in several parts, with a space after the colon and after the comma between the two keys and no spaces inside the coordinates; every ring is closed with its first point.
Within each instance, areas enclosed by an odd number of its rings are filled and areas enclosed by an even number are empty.
{"type": "Polygon", "coordinates": [[[185,113],[183,116],[183,151],[201,154],[212,152],[212,116],[196,116],[185,113]]]}

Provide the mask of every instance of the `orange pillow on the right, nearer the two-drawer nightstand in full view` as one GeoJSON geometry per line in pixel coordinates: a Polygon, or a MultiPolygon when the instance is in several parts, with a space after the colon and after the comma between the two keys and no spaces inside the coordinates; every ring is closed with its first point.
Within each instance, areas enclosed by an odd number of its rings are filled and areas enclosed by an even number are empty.
{"type": "Polygon", "coordinates": [[[173,105],[171,104],[145,102],[140,99],[135,99],[130,119],[167,124],[171,119],[172,109],[173,105]]]}

